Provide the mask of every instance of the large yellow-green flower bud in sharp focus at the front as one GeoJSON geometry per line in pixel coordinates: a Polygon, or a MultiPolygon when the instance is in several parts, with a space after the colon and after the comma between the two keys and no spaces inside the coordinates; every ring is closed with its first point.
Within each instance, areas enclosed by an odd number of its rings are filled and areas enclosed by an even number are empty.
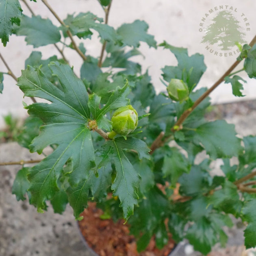
{"type": "Polygon", "coordinates": [[[111,118],[112,128],[117,134],[128,135],[138,125],[138,113],[132,105],[118,108],[111,118]]]}

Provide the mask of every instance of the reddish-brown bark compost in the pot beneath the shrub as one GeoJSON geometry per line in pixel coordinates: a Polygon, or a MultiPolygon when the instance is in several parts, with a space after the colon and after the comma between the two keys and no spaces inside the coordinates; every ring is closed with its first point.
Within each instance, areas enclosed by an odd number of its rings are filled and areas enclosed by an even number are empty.
{"type": "MultiPolygon", "coordinates": [[[[169,243],[163,248],[155,246],[151,239],[145,252],[138,254],[134,236],[129,235],[127,225],[120,220],[102,220],[102,210],[95,207],[95,203],[89,203],[88,208],[82,213],[84,219],[78,221],[78,228],[85,246],[93,256],[173,256],[175,242],[169,239],[169,243]]],[[[178,249],[178,248],[177,248],[178,249]]],[[[181,255],[180,255],[181,256],[181,255]]]]}

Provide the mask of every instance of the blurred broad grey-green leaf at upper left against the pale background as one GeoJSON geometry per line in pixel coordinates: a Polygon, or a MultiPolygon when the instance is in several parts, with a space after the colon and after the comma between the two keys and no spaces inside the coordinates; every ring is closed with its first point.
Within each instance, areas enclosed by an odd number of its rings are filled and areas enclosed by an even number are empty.
{"type": "Polygon", "coordinates": [[[61,40],[59,29],[49,19],[43,19],[39,15],[31,18],[23,15],[20,27],[16,29],[15,33],[26,36],[27,44],[34,47],[58,43],[61,40]]]}

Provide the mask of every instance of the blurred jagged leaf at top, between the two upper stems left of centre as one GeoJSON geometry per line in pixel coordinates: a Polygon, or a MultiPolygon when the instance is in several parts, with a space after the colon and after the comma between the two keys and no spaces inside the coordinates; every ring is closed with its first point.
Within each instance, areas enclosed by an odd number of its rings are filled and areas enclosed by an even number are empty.
{"type": "Polygon", "coordinates": [[[93,29],[99,33],[102,39],[120,43],[121,38],[117,35],[114,28],[107,24],[102,24],[102,22],[102,18],[98,18],[90,12],[79,13],[76,17],[68,15],[67,19],[64,20],[64,23],[69,27],[72,35],[77,35],[79,38],[91,38],[93,33],[90,29],[93,29]]]}

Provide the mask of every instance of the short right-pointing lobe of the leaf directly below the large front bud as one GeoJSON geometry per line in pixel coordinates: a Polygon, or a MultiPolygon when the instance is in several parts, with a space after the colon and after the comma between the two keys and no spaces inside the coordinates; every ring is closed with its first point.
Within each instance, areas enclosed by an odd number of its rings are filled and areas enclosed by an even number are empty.
{"type": "Polygon", "coordinates": [[[150,149],[148,145],[140,139],[135,137],[128,137],[127,139],[119,137],[115,139],[115,143],[122,149],[135,150],[140,160],[142,158],[150,160],[150,154],[148,154],[150,149]]]}

